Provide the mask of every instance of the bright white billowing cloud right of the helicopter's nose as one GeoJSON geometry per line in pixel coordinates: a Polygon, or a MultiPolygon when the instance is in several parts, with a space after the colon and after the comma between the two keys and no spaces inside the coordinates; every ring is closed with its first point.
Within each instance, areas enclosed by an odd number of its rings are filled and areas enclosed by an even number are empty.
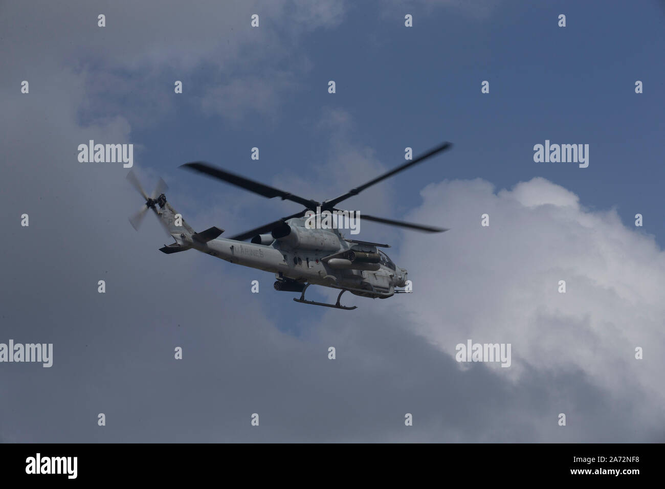
{"type": "Polygon", "coordinates": [[[448,355],[467,339],[511,343],[513,365],[495,375],[513,383],[577,372],[624,401],[628,386],[638,387],[642,397],[631,404],[660,418],[665,253],[652,237],[543,178],[497,193],[484,180],[445,181],[422,196],[410,217],[452,230],[404,239],[414,331],[448,355]]]}

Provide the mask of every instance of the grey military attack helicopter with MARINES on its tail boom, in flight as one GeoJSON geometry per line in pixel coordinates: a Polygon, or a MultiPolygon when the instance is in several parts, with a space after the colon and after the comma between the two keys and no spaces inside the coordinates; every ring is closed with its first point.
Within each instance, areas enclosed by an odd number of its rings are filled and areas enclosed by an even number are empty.
{"type": "MultiPolygon", "coordinates": [[[[146,200],[138,213],[130,218],[130,223],[138,231],[146,212],[148,209],[152,209],[167,234],[175,240],[173,244],[160,248],[163,253],[180,253],[188,249],[196,249],[229,261],[229,263],[275,273],[275,290],[301,293],[300,298],[293,298],[298,303],[352,310],[356,309],[356,306],[349,307],[340,304],[340,298],[344,292],[348,291],[354,295],[373,299],[387,299],[396,293],[408,293],[409,289],[398,288],[407,287],[407,271],[395,265],[380,249],[388,248],[390,245],[344,238],[340,228],[312,226],[313,222],[319,224],[323,214],[329,215],[331,212],[336,212],[344,215],[344,213],[348,213],[336,206],[340,202],[358,195],[366,188],[451,147],[452,143],[444,142],[413,160],[401,164],[365,184],[352,188],[345,194],[323,202],[306,199],[255,182],[206,162],[191,162],[180,166],[180,168],[221,180],[265,198],[279,197],[281,200],[290,200],[305,207],[291,216],[274,220],[228,239],[219,238],[224,230],[215,226],[205,231],[195,232],[182,218],[182,215],[178,214],[166,201],[164,192],[168,190],[168,187],[164,180],[160,178],[154,192],[148,196],[133,170],[130,170],[127,179],[146,200]],[[246,240],[249,238],[251,241],[247,243],[246,240]],[[305,291],[310,285],[339,289],[340,293],[336,303],[305,299],[305,291]]],[[[359,213],[356,214],[359,215],[359,213]]],[[[378,218],[366,214],[359,218],[420,232],[448,231],[443,228],[378,218]]]]}

